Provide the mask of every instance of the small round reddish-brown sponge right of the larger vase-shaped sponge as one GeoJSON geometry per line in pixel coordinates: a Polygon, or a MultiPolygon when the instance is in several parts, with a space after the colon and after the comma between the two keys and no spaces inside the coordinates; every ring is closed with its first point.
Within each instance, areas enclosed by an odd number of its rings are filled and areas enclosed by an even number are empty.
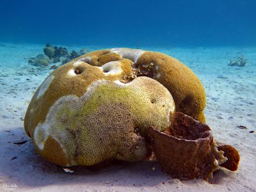
{"type": "Polygon", "coordinates": [[[221,145],[218,146],[218,150],[222,150],[224,152],[224,156],[228,158],[228,161],[221,164],[221,166],[227,168],[230,171],[236,171],[239,164],[239,153],[236,148],[230,145],[221,145]]]}

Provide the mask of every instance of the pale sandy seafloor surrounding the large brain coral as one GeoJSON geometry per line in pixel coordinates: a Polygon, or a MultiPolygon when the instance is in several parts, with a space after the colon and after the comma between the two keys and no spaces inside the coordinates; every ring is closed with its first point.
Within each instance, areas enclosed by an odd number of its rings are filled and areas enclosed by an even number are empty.
{"type": "Polygon", "coordinates": [[[23,122],[29,100],[52,71],[28,65],[28,58],[42,54],[43,47],[0,44],[0,191],[256,191],[256,47],[140,47],[170,54],[192,68],[205,86],[205,116],[214,139],[239,150],[239,170],[222,169],[211,184],[172,179],[156,161],[113,164],[99,172],[79,168],[70,174],[42,159],[26,136],[23,122]],[[245,67],[227,66],[241,54],[248,59],[245,67]],[[29,141],[13,144],[21,139],[29,141]]]}

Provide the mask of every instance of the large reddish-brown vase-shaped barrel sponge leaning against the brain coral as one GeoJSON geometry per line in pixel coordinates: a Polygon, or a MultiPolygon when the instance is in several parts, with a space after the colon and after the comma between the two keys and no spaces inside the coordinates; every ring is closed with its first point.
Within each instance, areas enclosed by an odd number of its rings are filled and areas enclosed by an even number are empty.
{"type": "Polygon", "coordinates": [[[184,113],[175,113],[165,132],[150,127],[149,135],[163,172],[173,178],[211,179],[218,164],[226,161],[216,148],[210,127],[184,113]]]}

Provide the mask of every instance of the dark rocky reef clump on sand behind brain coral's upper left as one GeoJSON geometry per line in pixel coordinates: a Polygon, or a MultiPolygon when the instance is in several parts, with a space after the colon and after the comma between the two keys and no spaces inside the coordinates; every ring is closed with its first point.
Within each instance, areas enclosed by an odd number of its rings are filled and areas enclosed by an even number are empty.
{"type": "Polygon", "coordinates": [[[58,68],[58,65],[68,63],[68,61],[74,60],[74,58],[86,54],[86,52],[89,51],[87,49],[81,49],[79,52],[75,50],[68,52],[65,47],[46,44],[44,54],[38,54],[36,57],[29,58],[28,63],[36,67],[48,67],[49,65],[55,64],[51,68],[58,68]]]}

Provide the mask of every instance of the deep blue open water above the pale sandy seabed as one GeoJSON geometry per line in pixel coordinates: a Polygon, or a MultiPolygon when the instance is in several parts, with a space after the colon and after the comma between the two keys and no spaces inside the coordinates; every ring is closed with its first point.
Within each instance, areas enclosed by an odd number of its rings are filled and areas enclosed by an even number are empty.
{"type": "Polygon", "coordinates": [[[1,1],[0,42],[251,46],[256,1],[1,1]]]}

